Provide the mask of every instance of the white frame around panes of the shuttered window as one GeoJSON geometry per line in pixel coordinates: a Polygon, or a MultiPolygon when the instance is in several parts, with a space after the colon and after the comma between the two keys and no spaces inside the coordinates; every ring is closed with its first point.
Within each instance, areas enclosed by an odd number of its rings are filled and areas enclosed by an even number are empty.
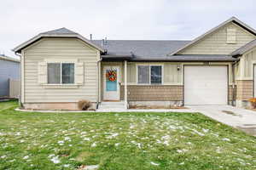
{"type": "Polygon", "coordinates": [[[62,64],[65,64],[65,63],[73,64],[73,66],[74,66],[74,74],[73,74],[73,76],[74,76],[74,79],[75,79],[75,62],[73,60],[65,60],[65,61],[56,61],[56,60],[50,61],[49,60],[46,63],[46,67],[47,67],[47,69],[46,69],[47,83],[44,84],[44,85],[49,85],[49,86],[72,86],[72,85],[74,85],[74,86],[77,86],[77,84],[75,84],[75,80],[74,80],[73,83],[62,83],[62,64]],[[61,64],[61,83],[59,83],[59,84],[48,83],[48,64],[61,64]]]}

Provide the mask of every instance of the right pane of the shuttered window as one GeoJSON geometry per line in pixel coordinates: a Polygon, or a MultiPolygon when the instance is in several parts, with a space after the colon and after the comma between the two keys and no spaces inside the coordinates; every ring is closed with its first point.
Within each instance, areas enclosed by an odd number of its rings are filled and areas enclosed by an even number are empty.
{"type": "Polygon", "coordinates": [[[74,83],[74,64],[62,63],[62,83],[73,84],[74,83]]]}

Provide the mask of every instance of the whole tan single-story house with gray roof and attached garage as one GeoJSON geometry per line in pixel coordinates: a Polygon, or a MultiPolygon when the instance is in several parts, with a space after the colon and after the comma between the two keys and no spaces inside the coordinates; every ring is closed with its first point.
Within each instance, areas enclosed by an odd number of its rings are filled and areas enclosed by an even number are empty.
{"type": "Polygon", "coordinates": [[[14,48],[27,109],[236,105],[255,95],[256,31],[235,17],[193,41],[88,40],[61,28],[14,48]]]}

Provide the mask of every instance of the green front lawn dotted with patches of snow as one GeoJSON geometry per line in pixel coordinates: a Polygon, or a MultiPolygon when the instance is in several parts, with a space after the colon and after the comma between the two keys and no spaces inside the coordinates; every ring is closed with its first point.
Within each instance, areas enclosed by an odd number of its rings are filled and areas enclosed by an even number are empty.
{"type": "Polygon", "coordinates": [[[37,113],[17,105],[0,103],[0,169],[256,169],[256,138],[199,113],[37,113]]]}

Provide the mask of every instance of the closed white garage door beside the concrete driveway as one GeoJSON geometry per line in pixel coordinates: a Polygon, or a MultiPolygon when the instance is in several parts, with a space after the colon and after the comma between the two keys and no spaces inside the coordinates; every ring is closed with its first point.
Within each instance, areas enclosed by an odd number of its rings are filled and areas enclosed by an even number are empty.
{"type": "Polygon", "coordinates": [[[225,65],[184,65],[184,105],[227,105],[225,65]]]}

